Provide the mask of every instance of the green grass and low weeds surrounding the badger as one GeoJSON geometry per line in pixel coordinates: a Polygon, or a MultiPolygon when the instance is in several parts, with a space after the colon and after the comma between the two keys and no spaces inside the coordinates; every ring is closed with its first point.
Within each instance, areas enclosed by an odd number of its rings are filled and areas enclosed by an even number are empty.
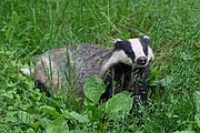
{"type": "Polygon", "coordinates": [[[199,7],[199,0],[1,0],[0,132],[42,132],[46,127],[50,132],[51,124],[63,124],[57,116],[48,115],[49,109],[42,111],[44,105],[61,114],[86,113],[74,99],[48,99],[34,89],[33,80],[20,73],[21,66],[33,63],[32,57],[64,43],[111,48],[112,39],[141,34],[151,38],[156,54],[151,66],[154,93],[147,106],[134,109],[142,115],[106,123],[68,120],[69,130],[200,132],[193,96],[194,91],[200,91],[199,7]],[[142,122],[138,124],[140,117],[142,122]]]}

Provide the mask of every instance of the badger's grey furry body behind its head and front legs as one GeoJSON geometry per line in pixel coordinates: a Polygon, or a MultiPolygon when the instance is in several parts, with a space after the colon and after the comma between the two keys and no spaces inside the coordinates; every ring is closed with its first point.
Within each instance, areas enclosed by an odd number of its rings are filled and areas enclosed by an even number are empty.
{"type": "MultiPolygon", "coordinates": [[[[77,89],[83,95],[86,80],[100,74],[102,65],[111,57],[111,50],[82,44],[53,49],[41,54],[36,64],[37,84],[58,91],[60,88],[77,89]]],[[[39,86],[41,88],[41,86],[39,86]]]]}

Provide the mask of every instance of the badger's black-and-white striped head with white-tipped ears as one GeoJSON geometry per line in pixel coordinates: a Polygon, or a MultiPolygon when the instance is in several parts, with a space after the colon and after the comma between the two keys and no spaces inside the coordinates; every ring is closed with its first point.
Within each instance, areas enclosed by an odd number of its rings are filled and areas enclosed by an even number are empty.
{"type": "MultiPolygon", "coordinates": [[[[122,62],[134,64],[137,68],[144,68],[154,59],[150,48],[149,37],[141,39],[116,40],[112,58],[114,63],[122,62]]],[[[111,61],[112,62],[112,61],[111,61]]]]}

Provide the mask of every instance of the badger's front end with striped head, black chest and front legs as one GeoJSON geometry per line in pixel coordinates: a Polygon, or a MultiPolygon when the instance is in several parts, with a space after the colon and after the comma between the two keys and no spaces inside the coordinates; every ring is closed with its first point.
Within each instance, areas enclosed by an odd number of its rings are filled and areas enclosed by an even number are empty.
{"type": "Polygon", "coordinates": [[[147,35],[141,39],[117,40],[112,57],[103,65],[102,73],[107,73],[106,83],[109,88],[102,98],[108,100],[113,93],[121,91],[136,92],[146,102],[150,62],[154,60],[150,40],[147,35]],[[112,82],[116,85],[112,86],[112,82]]]}

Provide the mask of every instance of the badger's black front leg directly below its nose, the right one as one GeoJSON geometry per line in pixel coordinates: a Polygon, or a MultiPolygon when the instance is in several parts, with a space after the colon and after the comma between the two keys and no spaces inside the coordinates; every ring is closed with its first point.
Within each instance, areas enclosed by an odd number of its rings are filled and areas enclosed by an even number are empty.
{"type": "Polygon", "coordinates": [[[146,68],[138,68],[136,73],[136,89],[137,89],[137,96],[142,102],[142,104],[147,103],[148,96],[148,88],[149,88],[149,69],[150,66],[147,65],[146,68]]]}

